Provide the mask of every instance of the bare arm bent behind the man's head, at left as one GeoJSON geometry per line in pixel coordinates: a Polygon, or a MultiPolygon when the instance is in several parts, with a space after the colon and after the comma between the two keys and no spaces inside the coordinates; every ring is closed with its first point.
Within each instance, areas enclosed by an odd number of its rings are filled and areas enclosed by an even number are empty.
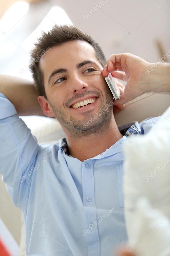
{"type": "Polygon", "coordinates": [[[14,104],[18,115],[46,116],[38,103],[32,81],[0,74],[0,92],[14,104]]]}

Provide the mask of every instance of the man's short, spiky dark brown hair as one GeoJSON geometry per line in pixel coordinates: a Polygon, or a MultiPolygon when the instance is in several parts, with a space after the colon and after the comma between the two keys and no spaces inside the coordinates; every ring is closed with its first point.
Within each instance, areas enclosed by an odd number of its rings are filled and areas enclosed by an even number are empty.
{"type": "Polygon", "coordinates": [[[65,42],[73,40],[83,40],[93,46],[96,52],[96,57],[101,63],[102,67],[106,65],[106,58],[100,46],[87,34],[84,34],[80,29],[73,25],[54,25],[53,28],[45,33],[42,31],[42,35],[34,43],[35,47],[31,50],[31,63],[30,70],[35,82],[35,88],[39,96],[44,96],[47,99],[44,88],[44,76],[39,67],[39,60],[42,53],[53,46],[62,45],[65,42]],[[38,61],[37,61],[38,59],[38,61]]]}

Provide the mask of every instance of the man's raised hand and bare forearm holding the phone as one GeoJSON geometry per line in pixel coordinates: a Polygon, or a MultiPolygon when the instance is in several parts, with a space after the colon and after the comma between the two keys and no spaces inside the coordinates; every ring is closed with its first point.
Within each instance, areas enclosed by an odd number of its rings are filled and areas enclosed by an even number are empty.
{"type": "MultiPolygon", "coordinates": [[[[161,58],[162,60],[162,58],[161,58]]],[[[124,104],[146,92],[170,93],[170,64],[150,63],[133,54],[113,54],[101,73],[126,81],[124,93],[115,105],[124,104]]]]}

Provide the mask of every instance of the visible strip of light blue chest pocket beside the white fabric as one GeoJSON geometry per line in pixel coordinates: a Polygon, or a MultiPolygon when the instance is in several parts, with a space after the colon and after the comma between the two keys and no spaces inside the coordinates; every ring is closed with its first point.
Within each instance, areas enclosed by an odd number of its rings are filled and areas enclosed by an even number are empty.
{"type": "Polygon", "coordinates": [[[116,174],[117,174],[117,201],[118,201],[118,207],[124,208],[122,164],[118,164],[116,166],[116,174]]]}

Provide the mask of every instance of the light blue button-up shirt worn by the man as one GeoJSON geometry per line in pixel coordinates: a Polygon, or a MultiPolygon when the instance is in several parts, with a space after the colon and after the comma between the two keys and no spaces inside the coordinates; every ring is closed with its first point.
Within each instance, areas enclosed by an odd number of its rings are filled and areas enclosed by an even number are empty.
{"type": "Polygon", "coordinates": [[[27,255],[113,256],[127,241],[123,146],[129,134],[148,132],[159,117],[118,126],[129,127],[119,141],[81,162],[66,154],[64,138],[39,145],[2,93],[0,109],[1,174],[22,210],[27,255]]]}

